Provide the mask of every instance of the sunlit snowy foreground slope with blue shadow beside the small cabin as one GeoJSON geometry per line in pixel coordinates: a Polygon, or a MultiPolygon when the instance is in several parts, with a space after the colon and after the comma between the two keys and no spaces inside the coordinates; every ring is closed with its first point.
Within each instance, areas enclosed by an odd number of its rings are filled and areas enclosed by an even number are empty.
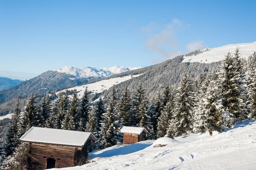
{"type": "MultiPolygon", "coordinates": [[[[256,121],[244,121],[223,133],[193,134],[116,145],[92,153],[95,162],[61,170],[255,170],[256,121]],[[159,143],[156,141],[156,143],[159,143]]],[[[57,169],[53,169],[57,170],[57,169]]]]}

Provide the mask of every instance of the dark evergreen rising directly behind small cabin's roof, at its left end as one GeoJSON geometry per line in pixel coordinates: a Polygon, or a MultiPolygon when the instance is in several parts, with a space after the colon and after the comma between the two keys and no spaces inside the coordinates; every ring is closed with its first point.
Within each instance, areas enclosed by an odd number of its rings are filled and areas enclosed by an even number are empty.
{"type": "Polygon", "coordinates": [[[131,95],[130,90],[125,86],[124,91],[118,102],[118,115],[120,117],[120,123],[122,126],[131,126],[131,95]]]}

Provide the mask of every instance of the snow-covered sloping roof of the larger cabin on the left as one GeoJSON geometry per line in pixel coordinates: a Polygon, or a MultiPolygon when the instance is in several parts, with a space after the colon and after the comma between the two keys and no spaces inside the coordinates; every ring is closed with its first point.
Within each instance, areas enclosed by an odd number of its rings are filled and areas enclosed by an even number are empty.
{"type": "Polygon", "coordinates": [[[83,146],[89,138],[96,141],[95,136],[88,132],[31,127],[21,136],[20,141],[80,147],[83,146]]]}

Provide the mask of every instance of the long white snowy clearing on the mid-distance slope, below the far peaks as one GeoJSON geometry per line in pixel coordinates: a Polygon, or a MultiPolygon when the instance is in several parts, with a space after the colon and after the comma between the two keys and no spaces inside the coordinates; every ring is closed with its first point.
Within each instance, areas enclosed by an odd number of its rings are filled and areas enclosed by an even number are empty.
{"type": "MultiPolygon", "coordinates": [[[[140,74],[142,75],[142,74],[140,74]]],[[[91,84],[86,84],[83,86],[76,86],[76,87],[72,87],[69,88],[68,90],[73,90],[76,89],[78,92],[78,96],[79,98],[81,98],[84,94],[84,89],[87,86],[88,90],[93,92],[93,93],[101,93],[103,90],[108,90],[109,88],[111,88],[113,85],[119,84],[121,82],[130,80],[131,78],[135,78],[135,77],[139,77],[140,75],[128,75],[128,76],[124,76],[124,77],[119,77],[119,78],[110,78],[108,80],[102,80],[102,81],[98,81],[96,83],[91,83],[91,84]]],[[[60,92],[65,92],[66,90],[62,90],[60,92]]],[[[56,95],[58,95],[59,92],[56,92],[56,95]]],[[[69,96],[71,97],[71,95],[69,96]]]]}

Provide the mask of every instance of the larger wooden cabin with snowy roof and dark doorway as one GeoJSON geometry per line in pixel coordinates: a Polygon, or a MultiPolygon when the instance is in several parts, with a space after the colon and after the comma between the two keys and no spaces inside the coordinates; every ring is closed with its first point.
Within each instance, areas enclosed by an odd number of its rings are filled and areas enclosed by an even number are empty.
{"type": "Polygon", "coordinates": [[[44,170],[70,167],[87,158],[87,144],[96,138],[87,132],[32,127],[20,141],[30,146],[31,163],[44,170]]]}

